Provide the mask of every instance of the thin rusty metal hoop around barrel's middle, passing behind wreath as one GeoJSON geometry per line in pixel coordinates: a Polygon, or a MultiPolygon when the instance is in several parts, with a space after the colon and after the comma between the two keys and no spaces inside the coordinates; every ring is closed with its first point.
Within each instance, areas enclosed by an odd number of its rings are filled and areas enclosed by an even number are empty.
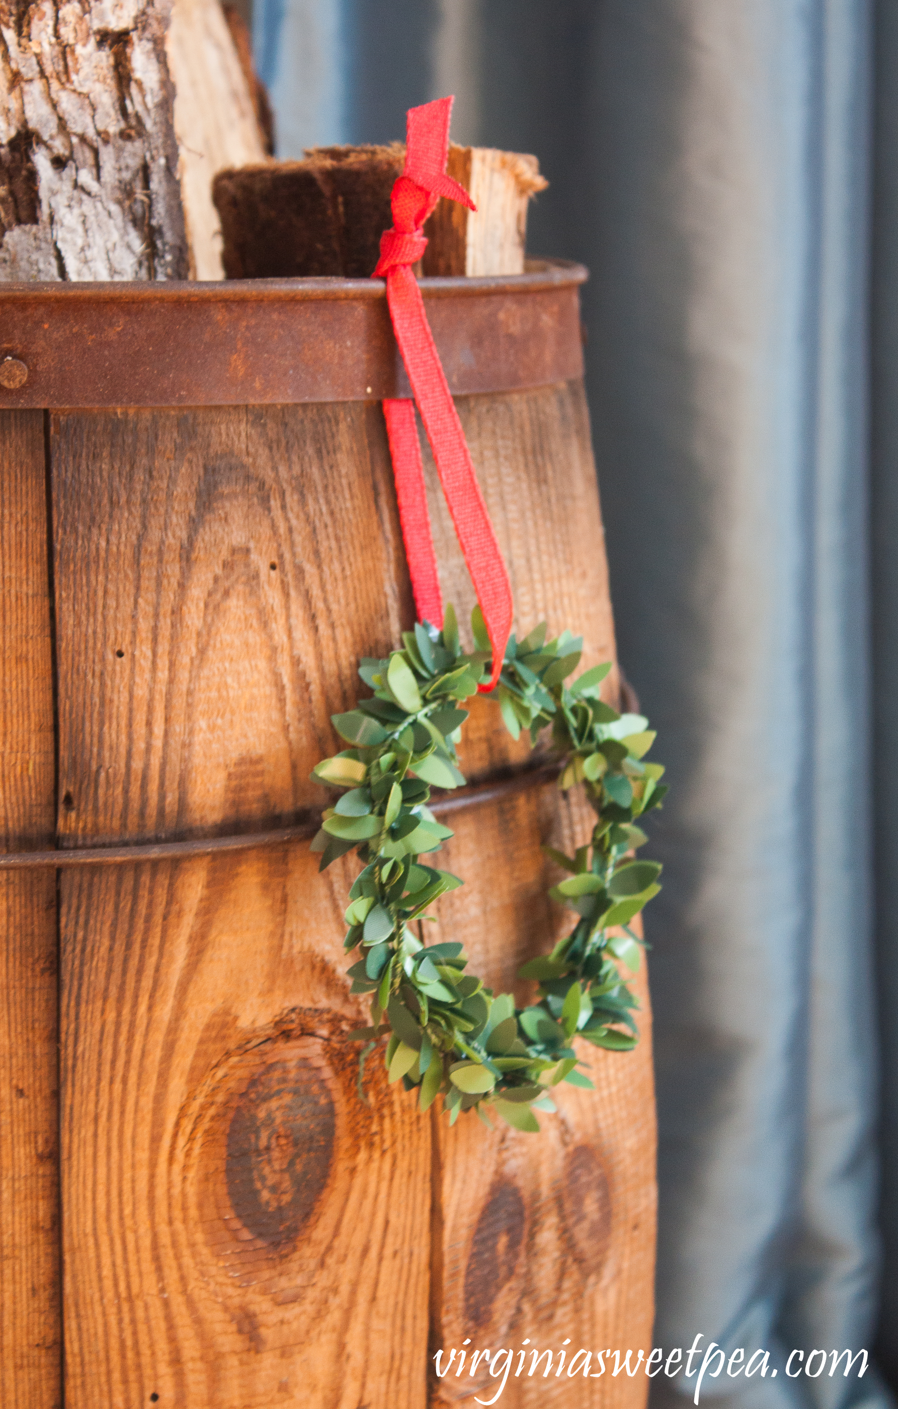
{"type": "MultiPolygon", "coordinates": [[[[491,778],[470,788],[459,788],[455,793],[431,800],[431,812],[446,817],[466,807],[479,807],[488,802],[500,802],[514,793],[531,788],[543,788],[559,776],[560,766],[548,764],[519,768],[514,774],[491,778]]],[[[241,831],[229,837],[194,837],[190,841],[145,841],[121,847],[80,847],[53,851],[14,851],[0,855],[0,871],[25,871],[37,867],[62,869],[63,867],[114,867],[135,865],[145,861],[177,861],[182,857],[213,857],[221,851],[259,851],[263,847],[284,847],[296,841],[310,841],[321,826],[321,813],[307,812],[290,827],[276,827],[272,831],[241,831]]]]}

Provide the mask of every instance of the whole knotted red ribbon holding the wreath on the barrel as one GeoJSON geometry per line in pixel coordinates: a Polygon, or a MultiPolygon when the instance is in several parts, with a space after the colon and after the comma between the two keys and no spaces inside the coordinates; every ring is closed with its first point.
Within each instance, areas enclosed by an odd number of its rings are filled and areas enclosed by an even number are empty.
{"type": "MultiPolygon", "coordinates": [[[[434,344],[418,280],[410,268],[421,259],[426,248],[421,227],[441,196],[459,200],[469,210],[474,210],[464,187],[446,176],[450,113],[450,97],[408,110],[405,166],[390,197],[393,228],[380,237],[380,259],[372,278],[386,275],[387,279],[387,303],[396,341],[403,354],[493,645],[490,683],[479,686],[481,690],[491,690],[498,681],[511,631],[511,583],[477,483],[459,413],[434,344]]],[[[383,409],[415,609],[419,620],[442,626],[443,603],[436,575],[415,409],[410,400],[388,400],[383,403],[383,409]]]]}

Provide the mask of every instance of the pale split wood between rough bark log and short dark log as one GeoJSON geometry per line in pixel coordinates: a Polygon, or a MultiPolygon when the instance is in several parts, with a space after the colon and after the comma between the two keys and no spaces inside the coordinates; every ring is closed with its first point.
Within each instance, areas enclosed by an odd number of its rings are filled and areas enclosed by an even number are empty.
{"type": "Polygon", "coordinates": [[[213,178],[270,151],[270,110],[252,69],[239,15],[218,0],[175,0],[166,52],[191,279],[221,279],[221,225],[213,178]],[[238,51],[235,35],[241,41],[238,51]],[[267,131],[262,123],[267,114],[267,131]]]}

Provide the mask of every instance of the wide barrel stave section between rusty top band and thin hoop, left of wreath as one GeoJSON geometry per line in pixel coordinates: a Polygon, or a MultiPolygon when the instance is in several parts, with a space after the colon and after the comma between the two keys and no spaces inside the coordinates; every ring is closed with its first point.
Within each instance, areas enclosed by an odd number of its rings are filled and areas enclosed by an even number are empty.
{"type": "Polygon", "coordinates": [[[63,844],[325,805],[412,610],[380,407],[55,413],[51,458],[63,844]]]}

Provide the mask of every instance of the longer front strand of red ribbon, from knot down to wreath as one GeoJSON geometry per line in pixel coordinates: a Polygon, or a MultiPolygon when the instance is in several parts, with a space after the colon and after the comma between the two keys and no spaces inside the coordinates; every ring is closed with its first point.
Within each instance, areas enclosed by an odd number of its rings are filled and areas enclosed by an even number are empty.
{"type": "MultiPolygon", "coordinates": [[[[498,682],[514,614],[511,583],[495,540],[459,413],[426,320],[418,280],[407,266],[390,269],[387,300],[396,341],[421,411],[464,562],[477,593],[493,645],[493,674],[498,682]]],[[[418,448],[419,454],[419,448],[418,448]]]]}

